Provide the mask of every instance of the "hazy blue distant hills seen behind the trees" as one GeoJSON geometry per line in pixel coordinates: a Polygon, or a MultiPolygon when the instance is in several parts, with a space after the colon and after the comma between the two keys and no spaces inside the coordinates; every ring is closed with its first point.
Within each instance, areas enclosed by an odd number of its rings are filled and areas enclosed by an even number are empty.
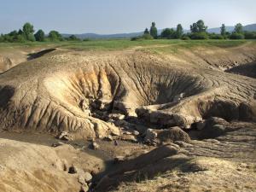
{"type": "MultiPolygon", "coordinates": [[[[234,30],[235,26],[226,26],[227,32],[232,32],[234,30]]],[[[243,29],[245,31],[249,32],[256,32],[256,23],[244,26],[243,29]]],[[[162,29],[158,30],[158,33],[160,34],[162,32],[162,29]]],[[[189,30],[184,30],[184,32],[189,32],[189,30]]],[[[215,32],[220,33],[220,27],[215,28],[209,28],[207,32],[215,32]]],[[[71,36],[72,34],[61,34],[63,37],[67,38],[71,36]]],[[[117,34],[96,34],[96,33],[83,33],[83,34],[74,34],[77,38],[132,38],[137,37],[140,35],[143,35],[143,32],[130,32],[130,33],[117,33],[117,34]]]]}

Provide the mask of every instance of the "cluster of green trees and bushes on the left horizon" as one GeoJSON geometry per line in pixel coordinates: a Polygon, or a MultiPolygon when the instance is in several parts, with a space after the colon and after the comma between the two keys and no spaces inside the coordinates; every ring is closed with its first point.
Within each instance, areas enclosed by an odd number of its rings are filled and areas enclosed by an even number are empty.
{"type": "Polygon", "coordinates": [[[34,26],[31,23],[26,22],[19,31],[9,32],[8,34],[1,34],[0,42],[17,42],[17,43],[25,43],[25,42],[56,42],[56,41],[79,41],[80,39],[74,35],[71,35],[68,38],[63,38],[60,32],[52,30],[48,35],[44,33],[42,29],[39,29],[37,32],[34,30],[34,26]]]}

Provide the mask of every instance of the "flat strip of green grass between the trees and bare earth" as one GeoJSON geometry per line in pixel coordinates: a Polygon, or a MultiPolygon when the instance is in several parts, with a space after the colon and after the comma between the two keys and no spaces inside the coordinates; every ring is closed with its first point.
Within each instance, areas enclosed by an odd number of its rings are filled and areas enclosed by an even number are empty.
{"type": "Polygon", "coordinates": [[[179,48],[190,49],[196,46],[215,46],[219,48],[231,48],[245,43],[256,45],[255,40],[177,40],[157,39],[139,40],[111,39],[111,40],[90,40],[84,42],[44,42],[44,43],[1,43],[0,49],[26,49],[32,47],[61,48],[74,50],[119,50],[119,49],[148,49],[148,50],[173,50],[179,48]]]}

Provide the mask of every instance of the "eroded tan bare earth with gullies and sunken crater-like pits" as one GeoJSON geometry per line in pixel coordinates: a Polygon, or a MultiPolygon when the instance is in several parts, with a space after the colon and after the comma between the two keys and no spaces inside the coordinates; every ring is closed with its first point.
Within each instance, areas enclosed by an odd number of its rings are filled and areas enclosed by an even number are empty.
{"type": "Polygon", "coordinates": [[[73,164],[93,191],[256,189],[254,44],[40,53],[0,75],[1,190],[79,191],[73,164]]]}

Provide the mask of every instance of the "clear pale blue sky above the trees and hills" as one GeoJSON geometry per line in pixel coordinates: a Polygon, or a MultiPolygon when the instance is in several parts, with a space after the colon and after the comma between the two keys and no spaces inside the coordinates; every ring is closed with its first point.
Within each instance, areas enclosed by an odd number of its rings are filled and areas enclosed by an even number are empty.
{"type": "Polygon", "coordinates": [[[0,0],[0,33],[26,21],[36,30],[61,33],[113,34],[189,25],[204,20],[209,27],[256,23],[256,0],[0,0]]]}

